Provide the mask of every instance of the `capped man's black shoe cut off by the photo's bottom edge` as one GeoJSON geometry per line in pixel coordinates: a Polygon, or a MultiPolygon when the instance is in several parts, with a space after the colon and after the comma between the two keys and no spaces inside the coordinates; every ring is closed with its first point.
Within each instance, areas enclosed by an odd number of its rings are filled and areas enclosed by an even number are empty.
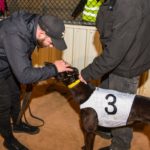
{"type": "Polygon", "coordinates": [[[22,145],[14,136],[4,138],[3,145],[8,150],[29,150],[27,147],[22,145]]]}

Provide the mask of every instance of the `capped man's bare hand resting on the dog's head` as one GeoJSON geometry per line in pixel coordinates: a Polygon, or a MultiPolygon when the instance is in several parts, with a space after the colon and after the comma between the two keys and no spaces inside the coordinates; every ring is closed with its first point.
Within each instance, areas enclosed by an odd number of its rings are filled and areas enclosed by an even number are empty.
{"type": "Polygon", "coordinates": [[[56,60],[54,65],[56,66],[58,72],[73,71],[70,68],[70,64],[64,60],[56,60]]]}

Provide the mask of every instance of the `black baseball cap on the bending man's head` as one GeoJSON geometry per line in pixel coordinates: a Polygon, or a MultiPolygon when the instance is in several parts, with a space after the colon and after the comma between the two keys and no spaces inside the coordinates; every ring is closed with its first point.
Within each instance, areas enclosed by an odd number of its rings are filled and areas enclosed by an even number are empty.
{"type": "Polygon", "coordinates": [[[65,26],[61,19],[55,16],[44,15],[40,16],[38,24],[52,39],[54,47],[59,50],[65,50],[67,48],[64,40],[65,26]]]}

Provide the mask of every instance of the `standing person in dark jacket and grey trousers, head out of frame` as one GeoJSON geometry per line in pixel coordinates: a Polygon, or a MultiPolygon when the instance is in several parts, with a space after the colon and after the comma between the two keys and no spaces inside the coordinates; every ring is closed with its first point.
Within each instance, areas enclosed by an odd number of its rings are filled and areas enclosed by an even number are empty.
{"type": "MultiPolygon", "coordinates": [[[[139,76],[150,68],[149,14],[149,0],[105,0],[96,22],[103,53],[81,71],[80,80],[101,78],[102,88],[136,93],[139,76]]],[[[111,134],[111,145],[101,150],[130,149],[131,127],[111,134]]]]}

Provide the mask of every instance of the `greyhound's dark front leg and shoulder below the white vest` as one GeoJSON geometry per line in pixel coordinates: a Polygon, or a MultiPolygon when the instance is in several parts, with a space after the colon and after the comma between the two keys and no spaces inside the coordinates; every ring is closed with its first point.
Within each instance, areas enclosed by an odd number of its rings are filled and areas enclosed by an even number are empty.
{"type": "Polygon", "coordinates": [[[85,146],[83,150],[93,150],[95,131],[97,129],[98,119],[95,110],[85,108],[81,110],[81,123],[84,130],[85,146]]]}

